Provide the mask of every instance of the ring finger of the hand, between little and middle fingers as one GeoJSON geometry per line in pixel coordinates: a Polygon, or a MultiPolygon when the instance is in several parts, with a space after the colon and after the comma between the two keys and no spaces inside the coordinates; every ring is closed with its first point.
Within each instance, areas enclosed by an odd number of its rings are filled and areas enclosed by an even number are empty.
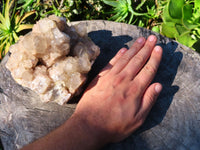
{"type": "Polygon", "coordinates": [[[145,38],[140,37],[136,40],[133,46],[116,62],[115,66],[110,70],[111,75],[121,72],[122,69],[129,63],[132,57],[144,46],[145,38]]]}

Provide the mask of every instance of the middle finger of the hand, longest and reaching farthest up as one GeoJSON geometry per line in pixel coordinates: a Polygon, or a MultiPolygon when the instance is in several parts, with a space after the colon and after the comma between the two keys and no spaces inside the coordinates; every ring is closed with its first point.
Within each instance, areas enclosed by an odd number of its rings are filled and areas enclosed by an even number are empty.
{"type": "Polygon", "coordinates": [[[129,61],[129,63],[122,70],[122,73],[125,72],[130,80],[132,80],[140,71],[140,69],[144,66],[152,53],[156,41],[156,36],[149,36],[144,47],[129,61]]]}

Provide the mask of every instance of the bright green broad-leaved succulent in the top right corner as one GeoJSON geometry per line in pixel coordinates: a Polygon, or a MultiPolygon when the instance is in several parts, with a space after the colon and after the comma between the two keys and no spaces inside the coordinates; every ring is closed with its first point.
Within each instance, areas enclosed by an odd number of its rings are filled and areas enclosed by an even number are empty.
{"type": "Polygon", "coordinates": [[[162,19],[163,35],[200,52],[199,0],[169,0],[162,19]]]}

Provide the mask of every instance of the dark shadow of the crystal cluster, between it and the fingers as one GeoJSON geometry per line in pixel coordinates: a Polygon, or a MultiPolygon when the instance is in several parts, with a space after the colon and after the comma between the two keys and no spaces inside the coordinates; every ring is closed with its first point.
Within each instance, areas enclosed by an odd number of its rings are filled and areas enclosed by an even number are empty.
{"type": "Polygon", "coordinates": [[[132,40],[128,35],[113,36],[112,31],[108,30],[93,31],[88,33],[88,36],[101,50],[88,75],[90,78],[94,78],[121,48],[128,48],[126,43],[132,40]]]}

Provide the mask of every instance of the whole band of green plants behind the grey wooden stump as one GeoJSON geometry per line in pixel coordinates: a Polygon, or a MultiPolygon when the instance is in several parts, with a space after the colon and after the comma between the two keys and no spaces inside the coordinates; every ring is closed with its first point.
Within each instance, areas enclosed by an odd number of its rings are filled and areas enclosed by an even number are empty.
{"type": "Polygon", "coordinates": [[[103,19],[137,25],[200,52],[200,0],[1,0],[0,61],[20,35],[51,14],[68,22],[103,19]]]}

